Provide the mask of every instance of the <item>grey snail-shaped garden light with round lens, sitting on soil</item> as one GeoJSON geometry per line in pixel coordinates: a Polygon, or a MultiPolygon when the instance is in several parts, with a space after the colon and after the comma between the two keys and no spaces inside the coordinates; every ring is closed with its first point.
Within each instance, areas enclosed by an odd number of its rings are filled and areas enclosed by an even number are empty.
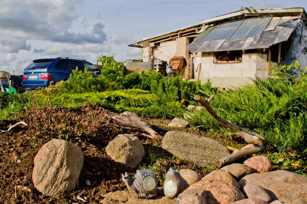
{"type": "Polygon", "coordinates": [[[137,170],[133,179],[126,172],[122,175],[122,180],[127,188],[133,190],[139,197],[151,198],[158,194],[157,175],[151,169],[137,170]]]}

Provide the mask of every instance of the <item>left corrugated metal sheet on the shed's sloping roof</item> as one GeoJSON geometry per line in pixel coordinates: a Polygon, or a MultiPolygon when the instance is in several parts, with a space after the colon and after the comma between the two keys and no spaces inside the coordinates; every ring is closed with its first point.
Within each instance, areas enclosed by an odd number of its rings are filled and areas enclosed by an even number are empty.
{"type": "Polygon", "coordinates": [[[210,33],[208,33],[202,39],[202,41],[229,39],[243,23],[243,21],[244,18],[217,25],[210,33]]]}

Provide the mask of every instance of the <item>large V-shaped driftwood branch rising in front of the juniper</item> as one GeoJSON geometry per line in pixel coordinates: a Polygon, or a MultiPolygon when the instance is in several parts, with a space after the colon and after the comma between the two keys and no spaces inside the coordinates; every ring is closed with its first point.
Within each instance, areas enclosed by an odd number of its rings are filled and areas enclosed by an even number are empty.
{"type": "Polygon", "coordinates": [[[212,95],[209,99],[203,99],[200,95],[196,95],[194,98],[196,101],[198,101],[201,105],[204,106],[204,108],[208,111],[208,113],[223,127],[230,128],[234,131],[236,131],[237,134],[241,135],[248,145],[243,147],[240,150],[233,151],[230,155],[217,160],[216,161],[216,167],[220,168],[226,164],[229,164],[237,159],[240,159],[242,157],[255,154],[259,151],[263,150],[263,144],[265,143],[264,137],[261,135],[249,132],[245,130],[244,128],[239,127],[236,124],[231,123],[230,121],[227,121],[220,117],[211,107],[210,101],[213,99],[214,95],[212,95]]]}

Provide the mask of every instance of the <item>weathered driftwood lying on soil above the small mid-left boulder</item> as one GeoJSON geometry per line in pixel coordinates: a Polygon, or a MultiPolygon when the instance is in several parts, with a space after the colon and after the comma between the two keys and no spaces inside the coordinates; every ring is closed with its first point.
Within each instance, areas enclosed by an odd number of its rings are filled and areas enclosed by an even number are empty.
{"type": "Polygon", "coordinates": [[[157,133],[156,131],[154,131],[153,129],[151,129],[150,127],[148,127],[146,125],[142,125],[142,124],[138,124],[138,123],[132,123],[132,122],[120,121],[120,120],[113,118],[107,112],[105,112],[104,116],[111,123],[114,123],[115,125],[119,125],[119,126],[122,126],[122,127],[129,127],[129,128],[138,128],[138,129],[144,130],[144,131],[148,132],[150,135],[147,135],[147,134],[142,134],[142,135],[149,137],[150,139],[156,139],[158,141],[161,141],[163,139],[163,137],[159,133],[157,133]]]}

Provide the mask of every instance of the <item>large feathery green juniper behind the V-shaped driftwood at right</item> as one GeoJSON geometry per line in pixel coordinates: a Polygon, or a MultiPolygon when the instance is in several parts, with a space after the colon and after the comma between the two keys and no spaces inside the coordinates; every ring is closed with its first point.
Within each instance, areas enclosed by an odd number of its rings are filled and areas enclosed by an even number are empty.
{"type": "MultiPolygon", "coordinates": [[[[210,104],[221,117],[263,135],[268,145],[279,151],[303,153],[307,147],[307,77],[291,77],[286,72],[293,68],[295,65],[272,67],[274,78],[256,78],[254,84],[216,92],[210,104]]],[[[203,97],[211,94],[208,89],[200,89],[203,97]]],[[[187,114],[191,116],[188,121],[195,126],[228,131],[206,110],[191,110],[187,114]]]]}

